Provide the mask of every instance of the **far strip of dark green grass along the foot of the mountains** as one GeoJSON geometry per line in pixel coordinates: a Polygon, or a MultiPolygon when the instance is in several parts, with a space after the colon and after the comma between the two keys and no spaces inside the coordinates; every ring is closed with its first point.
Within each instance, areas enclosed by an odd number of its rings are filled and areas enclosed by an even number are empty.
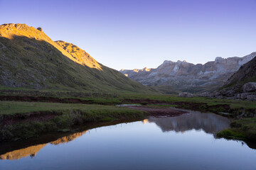
{"type": "MultiPolygon", "coordinates": [[[[116,105],[121,103],[204,103],[207,106],[216,106],[226,104],[231,109],[245,108],[255,109],[253,101],[235,101],[217,98],[193,97],[181,98],[174,95],[163,94],[103,94],[82,91],[47,91],[47,90],[14,90],[0,89],[1,101],[42,101],[58,103],[88,103],[101,105],[116,105]],[[2,96],[13,96],[12,98],[1,98],[2,96]],[[16,97],[14,97],[16,96],[16,97]],[[31,97],[31,98],[29,98],[31,97]],[[54,101],[55,100],[55,101],[54,101]]],[[[175,104],[174,104],[175,105],[175,104]]],[[[186,107],[186,106],[184,106],[186,107]]]]}

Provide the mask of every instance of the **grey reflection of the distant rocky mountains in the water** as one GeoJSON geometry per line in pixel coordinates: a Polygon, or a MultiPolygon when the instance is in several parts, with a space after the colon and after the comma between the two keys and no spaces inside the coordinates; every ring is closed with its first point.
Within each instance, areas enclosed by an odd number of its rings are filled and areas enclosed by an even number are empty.
{"type": "Polygon", "coordinates": [[[150,123],[156,123],[163,132],[184,132],[187,130],[204,130],[207,133],[216,132],[229,128],[230,120],[214,113],[200,113],[191,111],[177,117],[149,118],[150,123]]]}

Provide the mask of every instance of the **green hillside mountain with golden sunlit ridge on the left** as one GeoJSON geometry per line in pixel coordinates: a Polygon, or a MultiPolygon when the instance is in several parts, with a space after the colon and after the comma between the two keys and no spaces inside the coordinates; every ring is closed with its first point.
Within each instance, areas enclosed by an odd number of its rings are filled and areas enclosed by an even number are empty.
{"type": "Polygon", "coordinates": [[[0,26],[0,86],[95,92],[149,92],[85,50],[51,40],[42,28],[0,26]]]}

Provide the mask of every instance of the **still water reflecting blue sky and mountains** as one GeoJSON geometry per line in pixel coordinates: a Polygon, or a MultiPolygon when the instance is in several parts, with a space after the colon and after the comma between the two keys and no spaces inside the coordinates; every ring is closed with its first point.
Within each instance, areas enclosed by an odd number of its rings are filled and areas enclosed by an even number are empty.
{"type": "Polygon", "coordinates": [[[220,115],[189,111],[178,117],[0,144],[0,169],[256,170],[255,149],[215,139],[229,123],[220,115]]]}

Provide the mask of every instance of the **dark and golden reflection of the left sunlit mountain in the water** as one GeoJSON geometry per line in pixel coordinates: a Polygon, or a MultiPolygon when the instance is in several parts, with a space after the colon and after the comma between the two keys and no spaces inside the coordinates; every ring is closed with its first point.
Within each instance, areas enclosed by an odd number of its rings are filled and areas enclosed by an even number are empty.
{"type": "Polygon", "coordinates": [[[79,132],[53,133],[42,137],[31,138],[26,141],[6,142],[0,145],[0,159],[21,159],[23,157],[35,157],[36,154],[46,147],[46,145],[59,145],[75,140],[84,135],[92,128],[99,128],[107,125],[117,125],[119,123],[129,123],[135,120],[87,123],[84,127],[80,127],[79,132]]]}

